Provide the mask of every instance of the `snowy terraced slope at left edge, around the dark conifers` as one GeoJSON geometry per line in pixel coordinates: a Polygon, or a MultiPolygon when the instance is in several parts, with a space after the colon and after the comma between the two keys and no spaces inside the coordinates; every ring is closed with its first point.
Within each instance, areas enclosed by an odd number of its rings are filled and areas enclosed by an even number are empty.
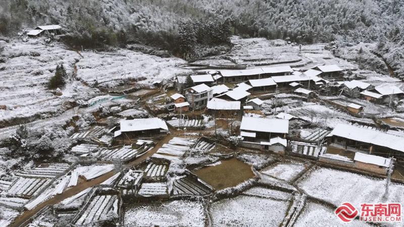
{"type": "Polygon", "coordinates": [[[63,44],[46,45],[42,39],[31,39],[4,43],[3,47],[1,55],[6,56],[7,61],[0,63],[0,68],[4,69],[0,71],[0,105],[6,105],[8,110],[0,110],[0,122],[16,117],[54,114],[63,110],[63,101],[94,93],[77,81],[69,82],[62,90],[62,96],[46,90],[58,64],[63,64],[70,76],[73,65],[81,59],[77,52],[66,49],[63,44]]]}

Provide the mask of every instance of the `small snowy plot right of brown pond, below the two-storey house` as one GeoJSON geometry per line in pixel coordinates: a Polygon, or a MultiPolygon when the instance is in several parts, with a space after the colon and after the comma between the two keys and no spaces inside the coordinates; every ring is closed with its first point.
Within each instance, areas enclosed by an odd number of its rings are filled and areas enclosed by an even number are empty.
{"type": "Polygon", "coordinates": [[[275,166],[269,166],[262,171],[262,174],[284,180],[290,181],[296,177],[301,171],[305,169],[305,165],[300,162],[283,162],[277,163],[275,166]]]}

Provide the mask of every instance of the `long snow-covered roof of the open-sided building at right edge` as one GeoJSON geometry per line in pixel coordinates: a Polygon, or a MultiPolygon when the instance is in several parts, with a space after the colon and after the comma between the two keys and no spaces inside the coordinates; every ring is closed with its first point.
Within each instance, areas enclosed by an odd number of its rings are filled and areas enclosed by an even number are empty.
{"type": "Polygon", "coordinates": [[[372,129],[339,124],[328,136],[339,136],[404,152],[404,143],[399,142],[404,141],[404,138],[372,129]]]}

